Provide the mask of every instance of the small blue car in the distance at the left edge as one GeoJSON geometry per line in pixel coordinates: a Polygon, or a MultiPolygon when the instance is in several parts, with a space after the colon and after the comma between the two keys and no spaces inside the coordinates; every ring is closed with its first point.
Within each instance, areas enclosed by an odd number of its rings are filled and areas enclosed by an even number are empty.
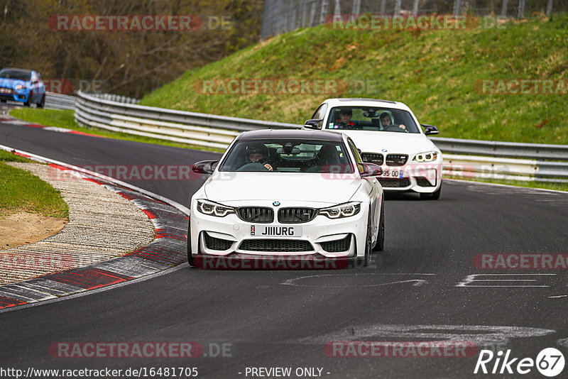
{"type": "Polygon", "coordinates": [[[0,70],[0,101],[20,101],[29,106],[34,103],[38,108],[45,105],[45,85],[38,72],[20,68],[0,70]]]}

